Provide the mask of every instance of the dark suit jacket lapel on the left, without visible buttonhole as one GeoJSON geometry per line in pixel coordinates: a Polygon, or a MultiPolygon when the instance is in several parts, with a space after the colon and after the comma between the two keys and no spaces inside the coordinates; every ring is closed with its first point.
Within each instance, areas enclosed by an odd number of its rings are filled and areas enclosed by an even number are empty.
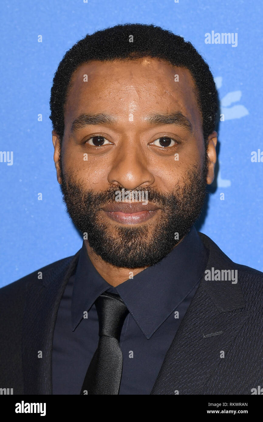
{"type": "Polygon", "coordinates": [[[57,311],[79,252],[56,268],[46,267],[42,279],[33,273],[27,284],[23,318],[24,394],[52,394],[52,342],[57,311]]]}

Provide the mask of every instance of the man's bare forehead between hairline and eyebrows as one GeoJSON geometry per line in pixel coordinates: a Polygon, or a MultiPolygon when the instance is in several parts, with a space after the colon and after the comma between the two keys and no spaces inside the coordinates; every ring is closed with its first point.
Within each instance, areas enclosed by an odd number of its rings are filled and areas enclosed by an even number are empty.
{"type": "Polygon", "coordinates": [[[119,119],[130,112],[139,119],[152,111],[181,111],[193,124],[202,123],[190,71],[152,57],[80,65],[70,81],[65,124],[87,111],[119,119]]]}

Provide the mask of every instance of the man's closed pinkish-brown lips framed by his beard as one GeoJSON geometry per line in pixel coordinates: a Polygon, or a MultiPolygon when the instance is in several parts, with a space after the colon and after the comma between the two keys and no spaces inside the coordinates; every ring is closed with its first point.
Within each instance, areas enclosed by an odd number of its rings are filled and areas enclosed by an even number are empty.
{"type": "Polygon", "coordinates": [[[160,208],[148,203],[118,203],[102,207],[106,216],[121,224],[139,224],[155,216],[160,208]]]}

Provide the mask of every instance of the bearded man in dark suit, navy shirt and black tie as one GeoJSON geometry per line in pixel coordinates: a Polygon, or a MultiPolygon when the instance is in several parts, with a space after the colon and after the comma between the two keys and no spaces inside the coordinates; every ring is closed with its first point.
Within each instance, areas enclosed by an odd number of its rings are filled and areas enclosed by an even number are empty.
{"type": "Polygon", "coordinates": [[[194,227],[216,163],[209,66],[169,31],[117,25],[65,54],[50,106],[57,180],[83,246],[0,290],[1,387],[253,394],[263,273],[194,227]]]}

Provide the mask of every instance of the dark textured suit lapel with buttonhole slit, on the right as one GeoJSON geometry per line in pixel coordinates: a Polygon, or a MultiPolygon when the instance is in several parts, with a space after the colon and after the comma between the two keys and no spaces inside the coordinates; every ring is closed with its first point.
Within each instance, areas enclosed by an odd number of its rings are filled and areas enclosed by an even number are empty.
{"type": "MultiPolygon", "coordinates": [[[[206,269],[235,269],[235,264],[211,239],[199,235],[209,249],[206,269]]],[[[223,356],[233,346],[247,317],[239,284],[206,281],[204,273],[151,394],[205,394],[207,381],[223,365],[223,356]]]]}

